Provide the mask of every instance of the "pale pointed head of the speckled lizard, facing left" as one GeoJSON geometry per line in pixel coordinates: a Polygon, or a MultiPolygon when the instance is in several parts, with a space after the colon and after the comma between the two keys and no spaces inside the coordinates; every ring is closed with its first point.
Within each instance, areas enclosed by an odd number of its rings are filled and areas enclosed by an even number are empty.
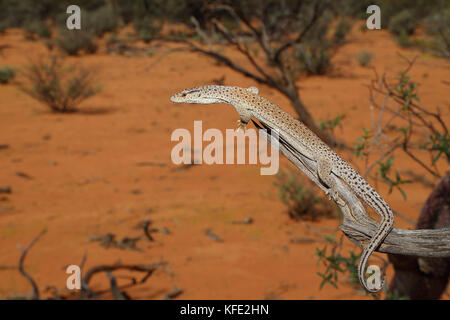
{"type": "Polygon", "coordinates": [[[228,103],[220,94],[220,90],[216,88],[218,86],[203,86],[191,89],[185,89],[178,93],[175,93],[170,97],[170,101],[176,103],[228,103]]]}

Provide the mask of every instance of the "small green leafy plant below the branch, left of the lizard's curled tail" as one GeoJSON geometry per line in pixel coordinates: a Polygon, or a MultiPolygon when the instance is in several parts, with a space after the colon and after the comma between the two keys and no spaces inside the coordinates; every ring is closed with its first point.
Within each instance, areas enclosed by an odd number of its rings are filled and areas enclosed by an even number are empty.
{"type": "Polygon", "coordinates": [[[343,256],[341,254],[342,238],[338,243],[334,234],[325,236],[325,241],[326,244],[322,249],[316,248],[317,263],[322,263],[325,266],[325,272],[317,272],[319,277],[322,278],[320,289],[327,283],[337,288],[339,274],[347,274],[350,283],[354,287],[359,287],[358,259],[360,255],[350,250],[349,256],[343,256]],[[329,247],[331,248],[328,251],[329,247]]]}

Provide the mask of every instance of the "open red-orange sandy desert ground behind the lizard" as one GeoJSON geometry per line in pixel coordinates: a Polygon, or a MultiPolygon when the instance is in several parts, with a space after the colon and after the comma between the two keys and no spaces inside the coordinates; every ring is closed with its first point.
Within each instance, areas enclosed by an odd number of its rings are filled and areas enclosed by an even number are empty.
{"type": "MultiPolygon", "coordinates": [[[[448,85],[441,81],[450,75],[445,60],[401,49],[385,31],[354,31],[348,40],[333,58],[332,75],[300,82],[302,98],[316,119],[345,114],[338,134],[350,145],[363,127],[370,127],[365,85],[374,73],[355,59],[367,50],[374,53],[372,65],[378,73],[391,77],[406,66],[397,53],[409,58],[419,55],[411,75],[421,83],[421,102],[430,108],[440,106],[448,121],[448,85]]],[[[47,53],[41,42],[25,41],[19,30],[0,35],[0,44],[10,46],[0,55],[0,65],[20,68],[27,58],[47,53]]],[[[79,264],[87,251],[85,268],[117,259],[167,261],[172,274],[157,272],[144,285],[128,290],[138,299],[161,299],[175,287],[184,290],[179,296],[183,299],[369,299],[345,282],[338,289],[326,285],[320,290],[316,273],[324,267],[317,264],[315,250],[324,243],[290,243],[293,237],[314,237],[311,230],[340,237],[337,219],[290,220],[273,184],[275,177],[261,176],[257,165],[177,170],[172,164],[174,129],[192,130],[194,120],[203,120],[204,130],[225,132],[235,127],[237,119],[227,105],[175,105],[169,101],[174,92],[222,76],[227,85],[257,84],[199,54],[173,52],[162,57],[166,50],[158,49],[152,57],[99,53],[70,58],[98,68],[103,87],[80,110],[104,112],[50,113],[13,85],[0,86],[0,144],[10,146],[0,150],[0,186],[13,189],[0,202],[0,265],[16,264],[17,246],[25,246],[46,228],[25,264],[41,291],[47,285],[64,288],[65,266],[79,264]],[[154,63],[156,59],[160,60],[154,63]],[[140,162],[155,165],[137,166],[140,162]],[[246,217],[254,223],[231,224],[246,217]],[[153,227],[169,228],[171,234],[155,233],[155,243],[143,238],[137,243],[143,252],[105,249],[87,241],[92,234],[114,233],[119,239],[139,236],[142,231],[133,227],[144,219],[151,219],[153,227]],[[208,238],[208,228],[224,242],[208,238]]],[[[260,86],[260,93],[294,114],[274,90],[260,86]]],[[[364,168],[362,162],[353,161],[364,168]]],[[[424,173],[404,157],[396,161],[400,169],[424,173]]],[[[282,167],[288,166],[284,159],[282,167]]],[[[419,183],[406,185],[405,201],[399,192],[389,195],[385,186],[377,188],[394,209],[414,221],[431,191],[419,183]]],[[[412,228],[401,219],[396,227],[412,228]]],[[[348,240],[344,244],[345,249],[359,252],[348,240]]],[[[392,277],[391,269],[387,276],[392,277]]],[[[0,279],[0,296],[30,290],[17,271],[1,271],[0,279]]],[[[95,277],[92,285],[106,288],[104,274],[95,277]]]]}

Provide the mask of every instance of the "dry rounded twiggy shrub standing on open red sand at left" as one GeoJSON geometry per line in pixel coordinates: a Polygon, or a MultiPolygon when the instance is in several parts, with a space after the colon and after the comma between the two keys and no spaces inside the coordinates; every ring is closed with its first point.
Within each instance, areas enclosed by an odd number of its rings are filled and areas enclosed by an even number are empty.
{"type": "Polygon", "coordinates": [[[20,89],[55,112],[74,112],[83,100],[100,91],[92,70],[65,66],[58,56],[32,62],[23,76],[20,89]]]}

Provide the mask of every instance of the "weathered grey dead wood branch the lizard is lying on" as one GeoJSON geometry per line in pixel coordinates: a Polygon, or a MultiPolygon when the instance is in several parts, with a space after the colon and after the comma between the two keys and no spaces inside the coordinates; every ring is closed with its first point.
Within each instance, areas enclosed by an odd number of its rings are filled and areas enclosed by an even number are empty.
{"type": "MultiPolygon", "coordinates": [[[[263,129],[255,121],[253,121],[253,123],[258,129],[263,129]]],[[[262,122],[261,124],[267,130],[268,135],[273,136],[274,138],[277,138],[277,136],[279,137],[278,148],[286,158],[306,174],[319,188],[325,191],[325,186],[317,179],[316,162],[306,158],[298,152],[298,150],[295,150],[295,148],[288,144],[283,139],[283,133],[276,131],[277,128],[270,128],[267,124],[262,122]]],[[[268,137],[267,141],[271,143],[271,139],[268,137]]],[[[344,216],[339,229],[353,243],[360,247],[365,247],[375,234],[378,222],[367,214],[361,201],[347,184],[337,176],[334,176],[334,179],[338,186],[339,196],[345,202],[344,206],[337,204],[344,216]]],[[[429,258],[450,257],[450,228],[423,230],[394,228],[377,251],[429,258]]]]}

